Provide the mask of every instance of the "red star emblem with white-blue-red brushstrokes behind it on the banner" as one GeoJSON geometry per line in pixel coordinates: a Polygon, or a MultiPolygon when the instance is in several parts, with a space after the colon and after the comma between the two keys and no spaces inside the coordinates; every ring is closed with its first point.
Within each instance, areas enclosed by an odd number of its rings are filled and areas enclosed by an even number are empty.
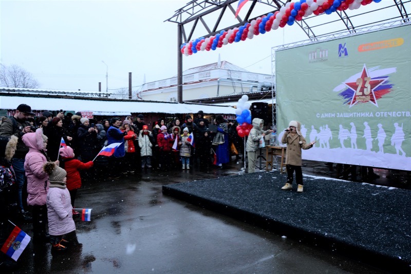
{"type": "MultiPolygon", "coordinates": [[[[389,83],[389,76],[387,74],[395,73],[397,68],[386,69],[367,69],[364,64],[362,70],[350,76],[344,81],[342,89],[338,95],[343,97],[344,103],[352,106],[357,103],[371,103],[378,107],[377,101],[384,95],[393,91],[394,84],[389,83]]],[[[340,86],[334,88],[341,90],[340,86]]]]}

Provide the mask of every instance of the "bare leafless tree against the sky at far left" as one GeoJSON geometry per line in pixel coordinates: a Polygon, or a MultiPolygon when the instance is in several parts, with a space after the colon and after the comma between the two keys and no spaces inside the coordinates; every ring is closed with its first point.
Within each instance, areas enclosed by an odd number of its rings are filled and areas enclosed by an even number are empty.
{"type": "Polygon", "coordinates": [[[8,88],[39,88],[40,84],[33,75],[17,65],[0,64],[0,84],[8,88]]]}

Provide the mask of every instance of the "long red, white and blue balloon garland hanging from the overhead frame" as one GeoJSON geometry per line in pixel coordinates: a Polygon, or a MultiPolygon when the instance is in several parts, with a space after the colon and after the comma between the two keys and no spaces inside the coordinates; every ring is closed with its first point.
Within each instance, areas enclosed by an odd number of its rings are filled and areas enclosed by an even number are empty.
{"type": "Polygon", "coordinates": [[[223,45],[245,41],[247,38],[252,39],[254,35],[264,34],[272,29],[276,30],[278,27],[291,26],[295,21],[301,21],[303,17],[311,14],[331,14],[346,9],[354,10],[360,8],[361,5],[365,6],[372,2],[379,3],[381,0],[300,0],[299,2],[288,2],[276,12],[270,12],[267,15],[253,19],[244,26],[227,31],[222,30],[215,36],[196,38],[189,43],[184,43],[181,45],[180,50],[185,56],[198,51],[216,50],[223,45]]]}

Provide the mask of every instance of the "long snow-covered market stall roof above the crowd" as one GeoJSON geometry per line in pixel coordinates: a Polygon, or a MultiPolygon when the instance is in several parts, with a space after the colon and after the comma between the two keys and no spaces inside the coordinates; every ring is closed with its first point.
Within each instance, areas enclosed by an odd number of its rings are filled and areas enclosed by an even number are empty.
{"type": "Polygon", "coordinates": [[[92,111],[95,115],[130,115],[130,113],[204,113],[235,114],[229,106],[195,103],[166,103],[152,101],[110,100],[97,98],[69,98],[0,92],[0,109],[16,109],[20,104],[32,110],[92,111]],[[100,114],[98,114],[100,113],[100,114]]]}

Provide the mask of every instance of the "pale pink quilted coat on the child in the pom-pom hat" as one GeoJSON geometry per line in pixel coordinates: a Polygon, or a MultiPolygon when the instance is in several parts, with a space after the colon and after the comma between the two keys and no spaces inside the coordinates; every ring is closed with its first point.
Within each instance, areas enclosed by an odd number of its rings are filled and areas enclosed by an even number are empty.
{"type": "Polygon", "coordinates": [[[47,193],[48,231],[52,236],[76,230],[73,221],[70,193],[67,188],[50,187],[47,193]]]}

